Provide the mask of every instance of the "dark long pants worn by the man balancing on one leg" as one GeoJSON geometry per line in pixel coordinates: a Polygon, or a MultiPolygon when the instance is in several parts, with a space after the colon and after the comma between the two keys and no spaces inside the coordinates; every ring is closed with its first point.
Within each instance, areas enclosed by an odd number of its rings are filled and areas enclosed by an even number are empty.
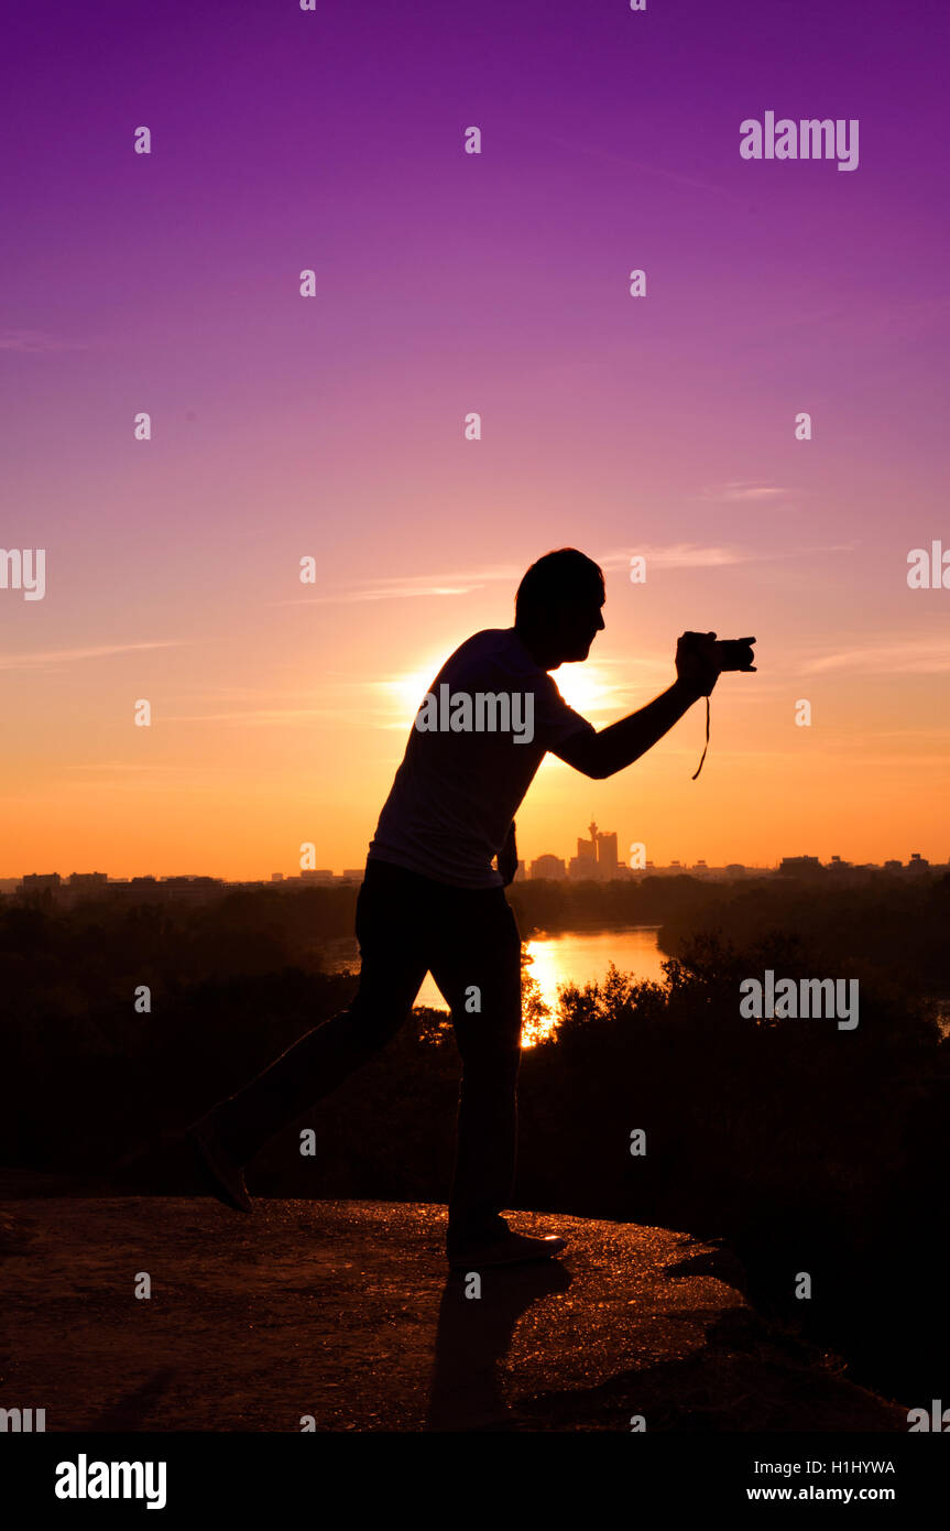
{"type": "Polygon", "coordinates": [[[451,888],[370,860],[356,900],[360,991],[216,1110],[240,1164],[379,1052],[427,972],[451,1009],[462,1085],[448,1203],[451,1243],[503,1232],[516,1160],[520,937],[502,888],[451,888]],[[476,991],[476,992],[473,992],[476,991]]]}

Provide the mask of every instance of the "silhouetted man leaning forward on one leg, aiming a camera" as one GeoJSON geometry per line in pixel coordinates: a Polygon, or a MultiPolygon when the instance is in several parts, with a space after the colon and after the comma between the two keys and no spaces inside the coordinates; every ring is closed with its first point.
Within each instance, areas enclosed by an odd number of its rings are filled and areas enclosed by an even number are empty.
{"type": "Polygon", "coordinates": [[[191,1128],[228,1205],[251,1211],[242,1167],[390,1041],[431,972],[462,1056],[448,1262],[508,1265],[564,1248],[512,1232],[502,1217],[522,1032],[520,939],[503,893],[517,870],[514,814],[548,750],[586,776],[612,776],[708,697],[719,674],[714,634],[690,651],[681,640],[669,690],[597,732],[549,671],[587,658],[603,603],[597,563],[574,548],[548,553],[519,585],[514,628],[476,632],[442,666],[369,848],[356,998],[191,1128]]]}

